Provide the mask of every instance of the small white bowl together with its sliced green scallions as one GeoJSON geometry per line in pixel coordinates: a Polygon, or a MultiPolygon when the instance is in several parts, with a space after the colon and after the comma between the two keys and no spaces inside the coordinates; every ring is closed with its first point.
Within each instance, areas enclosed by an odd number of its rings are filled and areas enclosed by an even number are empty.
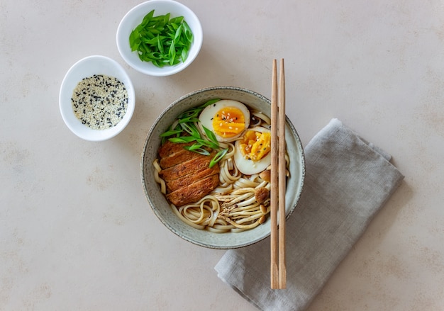
{"type": "Polygon", "coordinates": [[[128,11],[117,29],[123,60],[150,76],[181,72],[199,54],[203,33],[199,18],[184,4],[150,0],[128,11]]]}

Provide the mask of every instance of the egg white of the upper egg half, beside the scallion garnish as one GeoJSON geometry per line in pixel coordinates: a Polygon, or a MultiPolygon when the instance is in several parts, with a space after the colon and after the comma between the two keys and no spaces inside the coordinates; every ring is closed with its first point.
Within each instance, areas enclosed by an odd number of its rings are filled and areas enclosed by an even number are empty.
{"type": "Polygon", "coordinates": [[[216,101],[216,103],[205,107],[199,115],[199,127],[201,128],[202,132],[204,132],[203,126],[211,130],[211,132],[216,135],[216,140],[218,140],[218,142],[233,142],[236,138],[240,137],[240,135],[243,135],[243,132],[240,132],[238,135],[235,135],[233,137],[221,137],[216,134],[213,128],[214,115],[216,115],[216,113],[218,113],[218,111],[220,111],[224,107],[238,108],[243,113],[243,117],[245,119],[245,129],[248,128],[248,126],[250,125],[250,111],[248,110],[247,106],[245,106],[243,103],[240,103],[240,101],[233,101],[231,99],[221,99],[221,101],[216,101]]]}

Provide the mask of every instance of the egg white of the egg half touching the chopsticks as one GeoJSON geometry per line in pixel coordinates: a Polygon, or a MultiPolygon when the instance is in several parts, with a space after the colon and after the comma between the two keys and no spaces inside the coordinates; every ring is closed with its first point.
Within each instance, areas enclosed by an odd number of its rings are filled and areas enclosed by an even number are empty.
{"type": "MultiPolygon", "coordinates": [[[[256,128],[251,128],[249,130],[254,130],[255,132],[270,132],[267,128],[262,128],[260,126],[256,128]]],[[[238,167],[238,170],[245,175],[252,175],[260,173],[267,169],[268,166],[272,163],[272,153],[268,152],[268,154],[258,161],[252,161],[250,159],[245,159],[242,151],[240,150],[240,140],[236,140],[235,142],[235,151],[234,151],[234,162],[238,167]]]]}

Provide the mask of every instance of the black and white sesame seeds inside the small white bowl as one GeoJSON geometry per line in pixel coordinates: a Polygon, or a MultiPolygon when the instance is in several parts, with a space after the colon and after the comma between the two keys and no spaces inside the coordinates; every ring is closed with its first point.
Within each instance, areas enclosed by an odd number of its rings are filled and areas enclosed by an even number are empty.
{"type": "Polygon", "coordinates": [[[125,84],[102,74],[82,79],[72,93],[74,115],[89,128],[105,130],[122,120],[128,106],[125,84]]]}

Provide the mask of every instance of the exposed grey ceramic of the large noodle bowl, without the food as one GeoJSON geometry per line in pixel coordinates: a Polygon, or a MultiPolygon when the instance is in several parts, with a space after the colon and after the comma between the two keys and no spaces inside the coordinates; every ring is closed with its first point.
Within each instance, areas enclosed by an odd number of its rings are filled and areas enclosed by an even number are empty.
{"type": "MultiPolygon", "coordinates": [[[[187,94],[182,98],[174,101],[165,111],[155,120],[152,125],[148,137],[143,147],[141,162],[141,178],[145,195],[148,203],[155,215],[168,227],[172,232],[179,235],[183,239],[198,244],[203,247],[214,249],[234,249],[245,247],[247,245],[258,242],[270,234],[270,218],[264,224],[255,227],[252,230],[238,233],[213,233],[204,230],[197,230],[179,219],[172,212],[169,203],[160,192],[159,186],[154,180],[154,169],[152,162],[157,157],[157,148],[160,146],[159,135],[165,132],[167,127],[173,122],[174,118],[194,106],[209,101],[212,98],[227,98],[245,103],[247,106],[257,108],[265,114],[270,115],[270,101],[253,91],[240,89],[235,87],[213,87],[201,89],[193,93],[187,94]]],[[[286,213],[287,217],[291,215],[304,184],[305,163],[304,151],[296,129],[287,118],[286,125],[286,142],[287,150],[290,155],[289,171],[290,177],[287,181],[286,213]]]]}

